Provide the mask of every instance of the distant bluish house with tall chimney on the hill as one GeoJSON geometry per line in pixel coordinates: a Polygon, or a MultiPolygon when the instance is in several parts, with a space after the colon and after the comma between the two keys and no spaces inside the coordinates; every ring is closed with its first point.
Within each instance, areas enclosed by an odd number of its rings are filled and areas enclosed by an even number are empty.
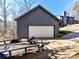
{"type": "Polygon", "coordinates": [[[72,24],[74,21],[73,16],[67,16],[66,11],[64,11],[64,16],[60,16],[61,26],[65,26],[67,24],[72,24]]]}

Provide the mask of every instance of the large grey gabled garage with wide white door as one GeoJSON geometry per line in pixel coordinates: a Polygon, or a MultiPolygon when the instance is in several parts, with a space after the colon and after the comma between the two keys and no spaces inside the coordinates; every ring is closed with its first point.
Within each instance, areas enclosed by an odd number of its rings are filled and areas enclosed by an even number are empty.
{"type": "Polygon", "coordinates": [[[17,38],[58,36],[59,19],[40,5],[15,20],[17,21],[17,38]]]}

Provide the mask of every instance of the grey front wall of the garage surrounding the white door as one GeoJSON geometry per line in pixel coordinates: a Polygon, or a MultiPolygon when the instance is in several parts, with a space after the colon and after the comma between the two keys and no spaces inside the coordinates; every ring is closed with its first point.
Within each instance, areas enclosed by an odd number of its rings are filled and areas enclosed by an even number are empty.
{"type": "Polygon", "coordinates": [[[17,37],[27,37],[28,38],[28,26],[55,26],[55,37],[58,36],[59,32],[59,22],[53,18],[51,15],[38,8],[27,16],[24,15],[19,20],[17,20],[17,37]]]}

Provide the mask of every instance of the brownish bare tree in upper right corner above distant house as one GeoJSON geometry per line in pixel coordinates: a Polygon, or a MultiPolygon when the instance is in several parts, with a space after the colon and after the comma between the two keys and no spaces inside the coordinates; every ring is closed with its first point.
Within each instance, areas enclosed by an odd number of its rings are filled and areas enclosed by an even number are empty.
{"type": "Polygon", "coordinates": [[[76,0],[76,2],[68,8],[67,12],[75,16],[75,19],[79,19],[79,0],[76,0]]]}

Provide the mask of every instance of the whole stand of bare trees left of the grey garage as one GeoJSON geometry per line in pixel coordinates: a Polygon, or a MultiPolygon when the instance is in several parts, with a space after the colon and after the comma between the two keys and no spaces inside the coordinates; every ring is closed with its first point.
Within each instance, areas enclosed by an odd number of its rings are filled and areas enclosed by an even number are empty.
{"type": "Polygon", "coordinates": [[[28,12],[36,0],[0,0],[0,40],[16,38],[15,18],[28,12]]]}

